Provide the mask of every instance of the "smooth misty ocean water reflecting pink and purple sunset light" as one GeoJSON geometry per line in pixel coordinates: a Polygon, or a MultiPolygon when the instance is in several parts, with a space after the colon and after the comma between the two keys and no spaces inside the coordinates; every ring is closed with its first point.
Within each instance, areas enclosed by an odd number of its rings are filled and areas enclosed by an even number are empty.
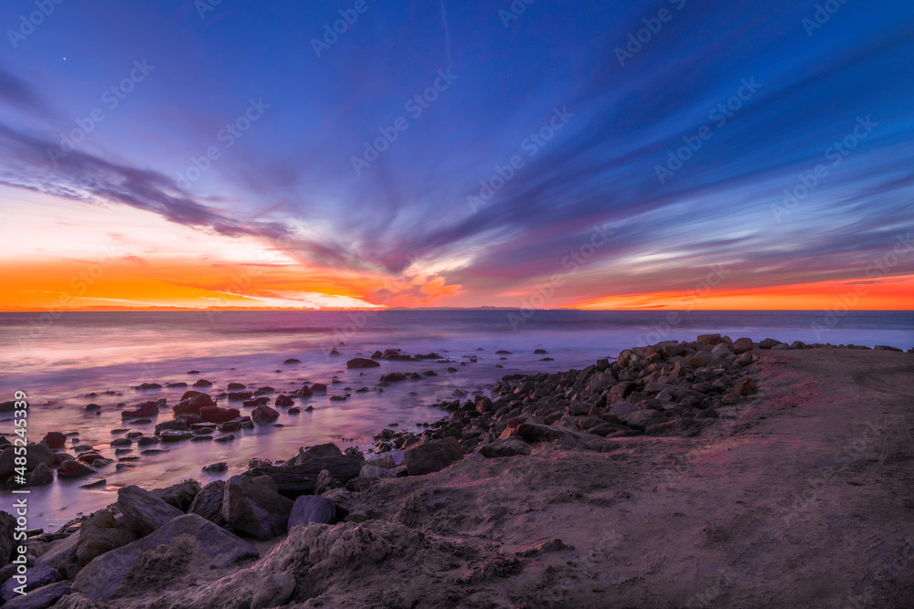
{"type": "MultiPolygon", "coordinates": [[[[34,488],[29,526],[54,527],[77,512],[111,503],[124,485],[156,488],[185,478],[205,483],[239,473],[251,457],[286,459],[299,446],[327,441],[367,450],[372,436],[385,427],[415,430],[417,424],[446,416],[434,404],[453,399],[455,391],[487,394],[505,374],[580,369],[632,346],[693,341],[709,332],[734,340],[771,337],[907,350],[914,346],[914,312],[851,311],[840,318],[826,318],[821,311],[682,311],[671,316],[659,310],[541,310],[529,318],[512,310],[0,313],[0,402],[14,399],[16,391],[27,394],[30,441],[48,431],[75,433],[80,444],[113,457],[110,442],[122,434],[112,435],[112,429],[129,427],[151,435],[156,421],[171,418],[166,408],[152,424],[122,425],[115,404],[133,407],[165,398],[171,405],[185,391],[134,390],[139,383],[189,385],[206,378],[214,383],[213,395],[230,382],[250,388],[270,385],[277,390],[273,398],[304,382],[330,385],[327,394],[300,402],[313,405],[312,412],[288,415],[279,409],[281,427],[236,432],[236,440],[227,444],[158,445],[154,447],[169,452],[143,456],[133,462],[136,467],[115,471],[112,464],[90,478],[34,488]],[[341,356],[329,355],[334,346],[341,356]],[[437,352],[452,362],[382,361],[380,368],[345,368],[349,358],[388,348],[437,352]],[[537,349],[547,355],[535,354],[537,349]],[[511,353],[496,354],[500,350],[511,353]],[[541,361],[544,357],[552,361],[541,361]],[[283,364],[287,358],[301,363],[283,364]],[[458,372],[448,373],[449,366],[458,372]],[[200,374],[187,374],[191,370],[200,374]],[[382,373],[429,370],[438,375],[375,391],[382,373]],[[331,384],[333,380],[339,383],[331,384]],[[371,391],[356,393],[360,387],[371,391]],[[115,394],[102,394],[106,391],[115,394]],[[97,395],[87,397],[90,393],[97,395]],[[350,396],[344,402],[329,399],[345,393],[350,396]],[[90,403],[101,404],[101,415],[82,410],[90,403]],[[200,470],[218,461],[228,462],[228,474],[208,476],[200,470]],[[105,478],[107,486],[80,488],[97,478],[105,478]]],[[[0,434],[8,437],[12,428],[12,415],[0,415],[0,434]]],[[[138,454],[134,446],[132,455],[138,454]]]]}

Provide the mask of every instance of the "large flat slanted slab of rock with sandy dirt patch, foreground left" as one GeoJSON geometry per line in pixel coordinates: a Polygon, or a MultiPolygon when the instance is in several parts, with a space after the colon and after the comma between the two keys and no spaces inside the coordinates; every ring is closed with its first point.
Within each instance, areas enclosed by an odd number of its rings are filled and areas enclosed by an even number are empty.
{"type": "Polygon", "coordinates": [[[178,590],[191,581],[199,585],[212,580],[222,570],[258,557],[258,551],[246,541],[197,514],[187,514],[143,539],[102,554],[80,572],[73,590],[93,601],[150,590],[178,590]]]}

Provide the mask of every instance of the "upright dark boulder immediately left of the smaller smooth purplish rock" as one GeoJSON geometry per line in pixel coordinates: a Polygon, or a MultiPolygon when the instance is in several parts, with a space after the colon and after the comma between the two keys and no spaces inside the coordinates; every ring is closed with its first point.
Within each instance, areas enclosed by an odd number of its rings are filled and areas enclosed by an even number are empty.
{"type": "Polygon", "coordinates": [[[222,499],[222,518],[233,529],[266,541],[286,532],[292,505],[269,476],[232,476],[222,499]]]}

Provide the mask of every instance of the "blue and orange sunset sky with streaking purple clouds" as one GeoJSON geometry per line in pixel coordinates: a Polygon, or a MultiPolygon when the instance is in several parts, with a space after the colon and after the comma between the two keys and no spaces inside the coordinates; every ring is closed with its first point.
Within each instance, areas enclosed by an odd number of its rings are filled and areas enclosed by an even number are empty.
{"type": "Polygon", "coordinates": [[[909,1],[0,26],[0,310],[911,308],[909,1]]]}

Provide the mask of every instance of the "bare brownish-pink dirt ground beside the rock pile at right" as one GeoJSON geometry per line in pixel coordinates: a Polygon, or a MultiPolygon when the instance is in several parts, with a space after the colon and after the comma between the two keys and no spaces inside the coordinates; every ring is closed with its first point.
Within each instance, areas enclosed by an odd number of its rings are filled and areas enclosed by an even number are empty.
{"type": "MultiPolygon", "coordinates": [[[[390,606],[911,607],[912,396],[907,353],[768,352],[760,394],[705,436],[471,458],[359,505],[467,548],[401,573],[390,606]],[[497,566],[553,538],[574,548],[497,566]]],[[[322,600],[365,600],[355,584],[322,600]]]]}

